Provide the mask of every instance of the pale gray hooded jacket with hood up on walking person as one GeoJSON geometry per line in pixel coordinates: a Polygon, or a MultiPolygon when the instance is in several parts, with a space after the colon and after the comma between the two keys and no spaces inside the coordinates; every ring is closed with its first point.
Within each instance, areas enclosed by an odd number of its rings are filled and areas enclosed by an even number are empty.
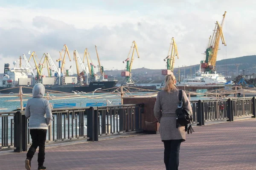
{"type": "Polygon", "coordinates": [[[29,118],[29,129],[48,129],[52,121],[49,101],[44,99],[44,85],[38,83],[33,88],[33,98],[26,104],[25,116],[29,118]]]}

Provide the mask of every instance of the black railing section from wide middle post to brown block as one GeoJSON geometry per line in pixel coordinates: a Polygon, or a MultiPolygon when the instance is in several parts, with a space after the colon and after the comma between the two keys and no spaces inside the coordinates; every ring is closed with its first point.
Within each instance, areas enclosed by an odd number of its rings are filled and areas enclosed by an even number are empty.
{"type": "Polygon", "coordinates": [[[87,115],[90,141],[121,133],[142,132],[143,104],[91,107],[87,115]]]}

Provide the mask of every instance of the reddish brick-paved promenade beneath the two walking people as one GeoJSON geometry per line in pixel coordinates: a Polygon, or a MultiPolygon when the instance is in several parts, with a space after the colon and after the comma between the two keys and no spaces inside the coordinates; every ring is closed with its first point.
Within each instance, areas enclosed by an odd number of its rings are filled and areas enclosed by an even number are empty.
{"type": "MultiPolygon", "coordinates": [[[[195,127],[179,170],[256,170],[256,119],[195,127]]],[[[0,153],[0,170],[22,170],[26,153],[0,153]]],[[[46,147],[48,170],[165,170],[160,135],[46,147]]],[[[32,159],[37,170],[37,153],[32,159]]]]}

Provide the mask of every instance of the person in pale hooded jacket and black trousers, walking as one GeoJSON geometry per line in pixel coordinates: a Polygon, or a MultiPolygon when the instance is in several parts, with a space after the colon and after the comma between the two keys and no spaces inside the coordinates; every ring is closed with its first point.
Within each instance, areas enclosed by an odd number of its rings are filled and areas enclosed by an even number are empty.
{"type": "Polygon", "coordinates": [[[44,85],[38,83],[33,88],[33,98],[26,104],[25,116],[29,118],[29,132],[32,139],[32,145],[26,154],[25,168],[30,170],[31,159],[33,158],[37,147],[38,151],[38,170],[46,170],[44,167],[45,159],[45,141],[47,129],[52,121],[52,111],[49,101],[44,99],[44,85]]]}

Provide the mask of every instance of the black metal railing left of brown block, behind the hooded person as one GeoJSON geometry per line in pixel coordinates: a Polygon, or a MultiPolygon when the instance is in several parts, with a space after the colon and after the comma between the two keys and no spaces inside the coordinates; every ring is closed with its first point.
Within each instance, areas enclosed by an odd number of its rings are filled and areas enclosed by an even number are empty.
{"type": "MultiPolygon", "coordinates": [[[[46,144],[98,141],[99,137],[142,132],[143,107],[143,104],[139,104],[52,109],[53,120],[47,130],[46,144]]],[[[0,113],[0,118],[0,151],[26,151],[32,140],[28,129],[29,119],[24,111],[0,113]]]]}

